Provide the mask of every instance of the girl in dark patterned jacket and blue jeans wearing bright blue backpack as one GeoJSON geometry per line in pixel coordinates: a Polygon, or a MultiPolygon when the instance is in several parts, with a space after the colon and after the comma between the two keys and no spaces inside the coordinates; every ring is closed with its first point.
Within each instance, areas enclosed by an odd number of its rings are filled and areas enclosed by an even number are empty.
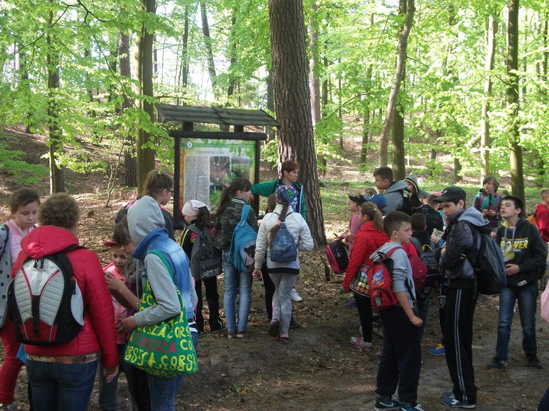
{"type": "MultiPolygon", "coordinates": [[[[244,269],[239,272],[230,260],[230,244],[233,232],[240,221],[242,207],[249,202],[251,183],[238,177],[221,192],[221,200],[217,207],[217,221],[214,225],[214,245],[223,251],[223,271],[225,273],[225,294],[223,306],[227,320],[228,338],[242,338],[246,335],[248,315],[251,304],[251,271],[244,269]],[[239,294],[238,322],[235,313],[236,294],[239,294]]],[[[257,216],[250,209],[247,222],[251,228],[258,230],[257,216]]]]}

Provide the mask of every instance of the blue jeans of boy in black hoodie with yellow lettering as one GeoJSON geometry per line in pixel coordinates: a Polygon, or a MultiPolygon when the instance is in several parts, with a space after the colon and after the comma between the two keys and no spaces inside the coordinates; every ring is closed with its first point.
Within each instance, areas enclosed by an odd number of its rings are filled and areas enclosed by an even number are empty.
{"type": "Polygon", "coordinates": [[[499,292],[499,317],[497,322],[496,357],[509,358],[509,339],[513,324],[513,308],[518,300],[518,313],[522,326],[522,350],[527,355],[537,354],[536,342],[536,308],[538,306],[538,282],[532,281],[522,287],[506,285],[499,292]]]}

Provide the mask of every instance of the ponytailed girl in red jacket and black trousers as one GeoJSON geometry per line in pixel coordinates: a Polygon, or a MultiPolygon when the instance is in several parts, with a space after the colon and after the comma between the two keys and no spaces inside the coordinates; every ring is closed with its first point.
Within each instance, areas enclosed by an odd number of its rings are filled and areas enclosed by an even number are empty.
{"type": "MultiPolygon", "coordinates": [[[[389,237],[383,232],[381,211],[372,202],[364,202],[360,205],[360,221],[363,225],[356,233],[355,247],[351,253],[349,266],[343,280],[345,292],[351,291],[349,285],[351,285],[351,281],[353,281],[360,265],[365,264],[372,267],[374,262],[370,260],[370,255],[389,241],[389,237]]],[[[363,335],[351,337],[351,343],[360,350],[371,351],[374,347],[372,344],[372,306],[369,297],[363,297],[355,293],[355,300],[363,335]]]]}

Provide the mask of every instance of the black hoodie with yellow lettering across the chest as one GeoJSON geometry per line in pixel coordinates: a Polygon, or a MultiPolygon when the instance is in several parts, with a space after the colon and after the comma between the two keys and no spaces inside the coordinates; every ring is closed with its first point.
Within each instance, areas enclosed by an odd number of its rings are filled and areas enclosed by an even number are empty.
{"type": "Polygon", "coordinates": [[[496,243],[502,248],[505,264],[518,265],[518,274],[507,276],[507,285],[538,281],[546,267],[547,246],[534,225],[520,218],[514,229],[499,227],[496,243]]]}

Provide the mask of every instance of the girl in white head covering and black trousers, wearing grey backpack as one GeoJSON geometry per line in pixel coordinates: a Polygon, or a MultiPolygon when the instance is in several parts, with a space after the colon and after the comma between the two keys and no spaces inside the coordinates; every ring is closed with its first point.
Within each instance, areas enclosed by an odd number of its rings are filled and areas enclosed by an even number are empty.
{"type": "MultiPolygon", "coordinates": [[[[214,225],[210,216],[210,208],[206,204],[197,200],[191,200],[185,203],[181,210],[185,217],[185,221],[189,225],[194,225],[198,230],[202,231],[206,227],[210,227],[210,233],[213,232],[214,225]]],[[[191,260],[191,252],[193,251],[193,245],[196,241],[196,234],[186,228],[181,237],[181,246],[186,253],[189,260],[191,260]]],[[[202,283],[204,283],[206,291],[206,301],[208,309],[210,310],[210,318],[208,324],[210,324],[210,331],[221,331],[224,329],[223,320],[219,318],[219,294],[217,292],[217,276],[205,278],[195,278],[195,290],[198,297],[198,305],[196,306],[196,325],[198,332],[204,331],[204,317],[202,315],[202,283]]]]}

